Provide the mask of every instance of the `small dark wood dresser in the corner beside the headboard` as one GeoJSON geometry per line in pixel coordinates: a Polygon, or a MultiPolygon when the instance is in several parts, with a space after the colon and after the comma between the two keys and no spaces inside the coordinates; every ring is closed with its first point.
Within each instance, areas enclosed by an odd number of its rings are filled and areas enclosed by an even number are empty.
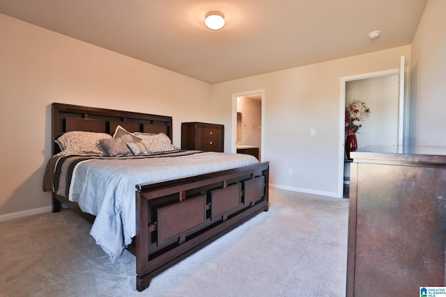
{"type": "Polygon", "coordinates": [[[181,124],[181,148],[223,152],[224,126],[205,122],[183,122],[181,124]]]}

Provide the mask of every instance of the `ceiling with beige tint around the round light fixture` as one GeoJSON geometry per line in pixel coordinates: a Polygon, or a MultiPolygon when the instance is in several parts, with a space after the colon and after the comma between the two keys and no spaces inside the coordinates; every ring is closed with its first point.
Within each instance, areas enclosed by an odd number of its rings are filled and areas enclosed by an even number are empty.
{"type": "Polygon", "coordinates": [[[410,45],[426,2],[0,0],[0,13],[219,83],[410,45]],[[204,26],[211,10],[225,16],[220,31],[204,26]]]}

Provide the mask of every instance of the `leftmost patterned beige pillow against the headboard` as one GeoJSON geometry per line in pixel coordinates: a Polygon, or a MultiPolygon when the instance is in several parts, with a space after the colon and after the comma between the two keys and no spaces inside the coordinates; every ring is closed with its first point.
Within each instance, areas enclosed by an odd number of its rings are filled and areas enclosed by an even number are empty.
{"type": "Polygon", "coordinates": [[[105,152],[99,143],[100,139],[111,139],[107,133],[70,131],[57,138],[60,154],[79,154],[83,156],[104,156],[105,152]]]}

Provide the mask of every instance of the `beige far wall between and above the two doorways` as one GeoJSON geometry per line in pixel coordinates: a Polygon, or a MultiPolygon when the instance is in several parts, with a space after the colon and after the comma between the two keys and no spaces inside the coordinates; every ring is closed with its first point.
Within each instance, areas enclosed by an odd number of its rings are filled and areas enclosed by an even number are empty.
{"type": "MultiPolygon", "coordinates": [[[[409,63],[410,46],[219,83],[213,86],[213,113],[224,123],[229,140],[232,94],[265,90],[262,160],[270,161],[272,185],[340,197],[339,156],[344,152],[340,78],[399,68],[400,56],[409,63]],[[310,129],[316,129],[315,136],[310,136],[310,129]]],[[[225,151],[231,144],[225,141],[225,151]]]]}

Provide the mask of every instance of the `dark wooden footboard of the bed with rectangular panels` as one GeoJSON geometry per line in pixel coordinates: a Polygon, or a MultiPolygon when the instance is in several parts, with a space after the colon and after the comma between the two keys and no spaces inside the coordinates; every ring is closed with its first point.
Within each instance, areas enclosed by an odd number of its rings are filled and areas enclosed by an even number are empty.
{"type": "Polygon", "coordinates": [[[268,211],[269,164],[137,185],[137,289],[238,225],[268,211]]]}

